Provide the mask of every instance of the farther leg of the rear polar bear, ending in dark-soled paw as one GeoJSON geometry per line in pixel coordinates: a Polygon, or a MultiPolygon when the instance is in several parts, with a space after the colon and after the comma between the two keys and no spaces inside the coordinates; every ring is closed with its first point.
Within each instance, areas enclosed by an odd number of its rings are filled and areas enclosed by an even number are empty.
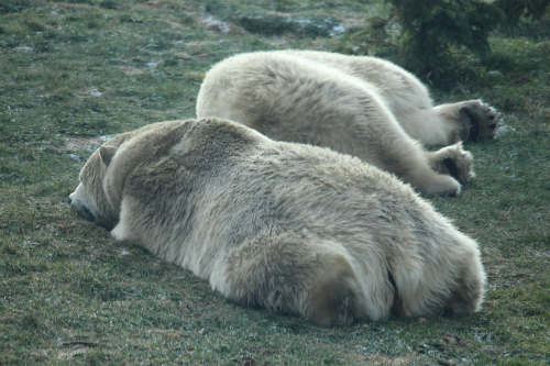
{"type": "Polygon", "coordinates": [[[403,129],[425,145],[494,138],[502,113],[482,100],[433,107],[426,86],[413,74],[377,57],[316,51],[283,51],[337,68],[373,84],[403,129]]]}

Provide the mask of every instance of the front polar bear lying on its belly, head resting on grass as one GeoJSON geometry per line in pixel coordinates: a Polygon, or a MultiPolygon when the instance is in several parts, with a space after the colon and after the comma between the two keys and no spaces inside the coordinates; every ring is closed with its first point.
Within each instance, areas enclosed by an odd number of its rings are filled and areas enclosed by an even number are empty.
{"type": "Polygon", "coordinates": [[[394,175],[326,147],[168,121],[106,142],[79,179],[74,209],[240,304],[343,326],[483,301],[474,240],[394,175]]]}

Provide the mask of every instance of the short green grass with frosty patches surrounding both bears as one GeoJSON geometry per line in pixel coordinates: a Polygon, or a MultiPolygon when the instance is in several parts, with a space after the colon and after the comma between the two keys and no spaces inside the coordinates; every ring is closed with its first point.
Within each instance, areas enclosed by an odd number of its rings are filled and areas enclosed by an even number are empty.
{"type": "Polygon", "coordinates": [[[477,178],[458,198],[430,199],[481,244],[490,281],[474,317],[320,329],[239,307],[66,204],[97,137],[193,118],[216,62],[337,49],[336,25],[361,26],[377,11],[351,0],[0,4],[0,365],[548,364],[544,37],[495,35],[493,55],[466,65],[477,79],[433,91],[441,102],[483,97],[506,117],[498,138],[466,144],[477,178]]]}

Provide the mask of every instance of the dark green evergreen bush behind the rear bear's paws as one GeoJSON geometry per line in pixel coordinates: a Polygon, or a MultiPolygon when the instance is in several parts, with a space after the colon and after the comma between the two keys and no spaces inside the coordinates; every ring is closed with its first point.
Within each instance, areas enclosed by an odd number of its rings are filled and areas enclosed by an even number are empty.
{"type": "Polygon", "coordinates": [[[494,4],[479,0],[387,0],[402,30],[402,58],[405,67],[426,76],[443,74],[449,67],[451,47],[466,47],[486,55],[490,32],[502,20],[494,4]]]}

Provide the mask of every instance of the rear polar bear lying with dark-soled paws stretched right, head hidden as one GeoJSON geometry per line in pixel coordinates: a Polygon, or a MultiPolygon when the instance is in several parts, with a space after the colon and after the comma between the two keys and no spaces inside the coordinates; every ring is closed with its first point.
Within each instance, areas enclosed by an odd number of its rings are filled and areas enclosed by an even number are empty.
{"type": "Polygon", "coordinates": [[[460,140],[492,137],[501,115],[477,100],[433,108],[411,74],[382,59],[323,52],[241,54],[216,65],[197,117],[240,122],[273,140],[351,154],[429,195],[474,176],[460,140]],[[421,144],[452,146],[426,152],[421,144]]]}

